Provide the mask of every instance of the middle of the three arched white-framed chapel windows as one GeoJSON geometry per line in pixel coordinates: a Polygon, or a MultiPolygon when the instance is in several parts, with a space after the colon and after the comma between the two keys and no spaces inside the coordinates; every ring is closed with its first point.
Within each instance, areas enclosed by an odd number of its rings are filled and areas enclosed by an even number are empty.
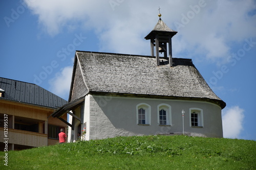
{"type": "Polygon", "coordinates": [[[158,105],[158,125],[172,125],[172,112],[170,105],[158,105]]]}

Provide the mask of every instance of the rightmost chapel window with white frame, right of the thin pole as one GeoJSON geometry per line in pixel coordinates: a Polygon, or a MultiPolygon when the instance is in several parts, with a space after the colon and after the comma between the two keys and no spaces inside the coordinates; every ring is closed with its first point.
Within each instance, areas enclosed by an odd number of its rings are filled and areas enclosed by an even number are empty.
{"type": "Polygon", "coordinates": [[[203,110],[199,108],[189,109],[190,127],[203,127],[203,110]]]}

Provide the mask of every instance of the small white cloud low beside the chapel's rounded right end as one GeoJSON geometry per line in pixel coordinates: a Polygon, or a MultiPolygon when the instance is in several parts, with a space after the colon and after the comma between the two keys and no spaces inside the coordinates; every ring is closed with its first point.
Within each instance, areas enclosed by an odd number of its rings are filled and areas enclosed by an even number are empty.
{"type": "Polygon", "coordinates": [[[222,113],[223,137],[239,138],[243,130],[244,110],[239,106],[226,108],[222,113]]]}

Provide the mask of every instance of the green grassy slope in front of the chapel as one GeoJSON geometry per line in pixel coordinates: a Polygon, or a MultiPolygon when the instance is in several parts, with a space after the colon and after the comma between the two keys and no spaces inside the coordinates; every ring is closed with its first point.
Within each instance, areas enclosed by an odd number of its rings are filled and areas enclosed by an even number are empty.
{"type": "Polygon", "coordinates": [[[0,169],[256,169],[256,141],[133,136],[0,152],[0,169]]]}

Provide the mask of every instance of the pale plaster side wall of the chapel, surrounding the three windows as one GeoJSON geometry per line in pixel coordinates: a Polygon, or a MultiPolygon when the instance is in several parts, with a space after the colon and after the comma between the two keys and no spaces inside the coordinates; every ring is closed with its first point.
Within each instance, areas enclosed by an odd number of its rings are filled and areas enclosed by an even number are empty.
{"type": "Polygon", "coordinates": [[[194,136],[223,137],[221,108],[209,102],[87,95],[85,105],[84,122],[87,122],[87,140],[182,132],[182,109],[185,111],[185,132],[190,132],[194,136]],[[151,106],[150,126],[137,125],[136,106],[140,103],[151,106]],[[172,107],[172,126],[159,126],[157,123],[157,106],[163,103],[172,107]],[[190,127],[189,108],[203,110],[203,128],[190,127]]]}

